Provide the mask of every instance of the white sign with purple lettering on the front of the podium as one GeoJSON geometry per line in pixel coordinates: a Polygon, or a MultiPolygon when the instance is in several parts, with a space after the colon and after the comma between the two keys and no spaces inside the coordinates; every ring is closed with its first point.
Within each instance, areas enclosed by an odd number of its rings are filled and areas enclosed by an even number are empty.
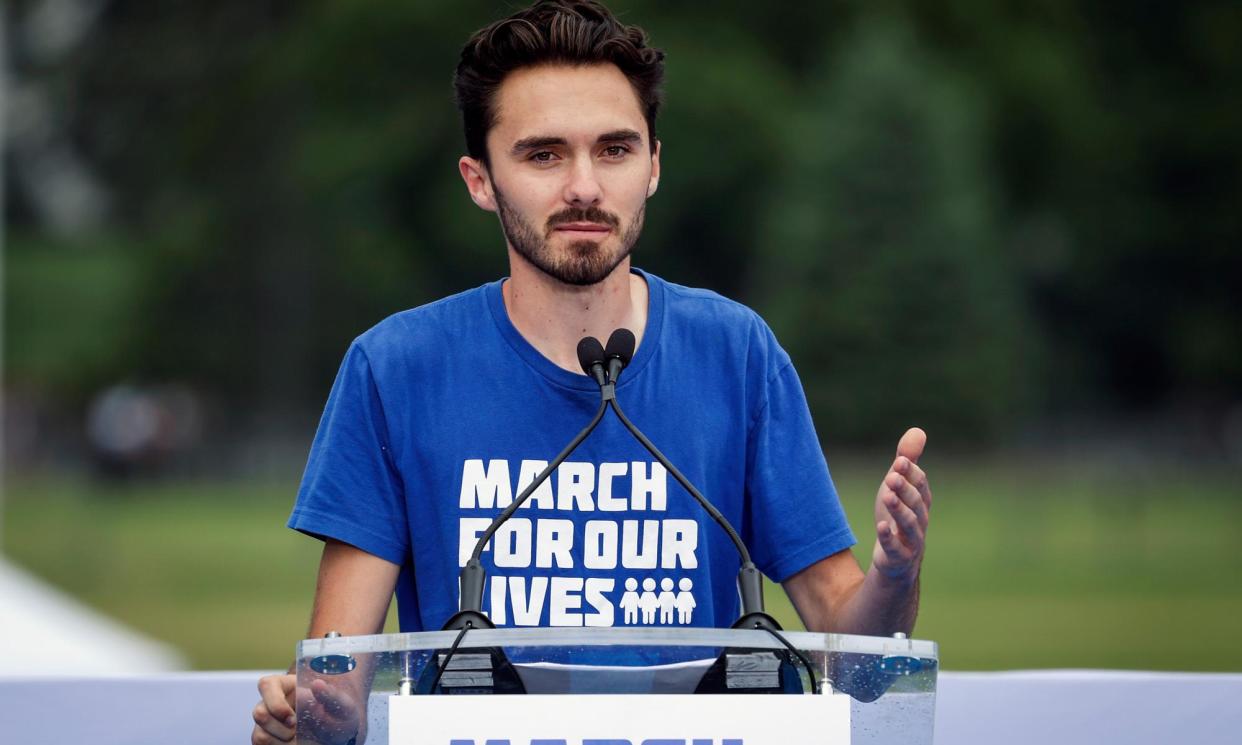
{"type": "Polygon", "coordinates": [[[394,695],[391,745],[848,745],[850,697],[394,695]]]}

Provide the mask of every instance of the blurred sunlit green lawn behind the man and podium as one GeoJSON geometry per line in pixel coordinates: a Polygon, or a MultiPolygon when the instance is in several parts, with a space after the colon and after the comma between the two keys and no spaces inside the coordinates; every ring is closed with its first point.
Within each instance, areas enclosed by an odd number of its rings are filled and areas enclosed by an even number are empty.
{"type": "MultiPolygon", "coordinates": [[[[833,466],[866,535],[881,473],[833,466]]],[[[933,468],[915,636],[940,643],[945,668],[1242,670],[1242,489],[1223,468],[933,468]]],[[[293,488],[10,483],[2,549],[197,668],[283,667],[319,554],[283,528],[293,488]]],[[[768,598],[800,627],[779,587],[768,598]]]]}

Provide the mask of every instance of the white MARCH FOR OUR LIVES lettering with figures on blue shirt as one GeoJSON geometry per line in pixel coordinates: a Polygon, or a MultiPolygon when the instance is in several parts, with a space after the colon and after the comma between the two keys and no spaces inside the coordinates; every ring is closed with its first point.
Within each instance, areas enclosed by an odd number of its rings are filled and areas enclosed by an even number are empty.
{"type": "MultiPolygon", "coordinates": [[[[486,517],[458,518],[458,566],[496,514],[546,467],[462,462],[458,508],[486,517]]],[[[498,626],[689,625],[698,603],[694,580],[684,575],[698,569],[699,525],[667,518],[667,509],[668,472],[660,463],[561,463],[519,508],[535,517],[514,515],[493,536],[486,611],[498,626]],[[566,513],[594,514],[581,523],[560,517],[566,513]],[[579,576],[553,571],[566,569],[579,576]],[[619,575],[630,576],[619,582],[619,575]]]]}

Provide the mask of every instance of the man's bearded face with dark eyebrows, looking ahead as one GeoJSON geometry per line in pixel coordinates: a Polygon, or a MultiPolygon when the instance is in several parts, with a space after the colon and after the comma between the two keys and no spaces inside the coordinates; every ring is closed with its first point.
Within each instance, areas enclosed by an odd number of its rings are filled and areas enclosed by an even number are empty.
{"type": "Polygon", "coordinates": [[[474,201],[549,277],[601,282],[630,256],[660,174],[637,94],[614,65],[558,65],[513,72],[496,103],[488,179],[471,184],[463,159],[474,201]]]}

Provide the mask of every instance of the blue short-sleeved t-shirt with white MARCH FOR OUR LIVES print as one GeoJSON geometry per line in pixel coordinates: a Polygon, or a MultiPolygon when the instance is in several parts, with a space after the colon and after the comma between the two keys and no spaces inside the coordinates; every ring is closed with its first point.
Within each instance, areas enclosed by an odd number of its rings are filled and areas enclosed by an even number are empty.
{"type": "MultiPolygon", "coordinates": [[[[638,272],[647,327],[617,401],[775,581],[850,548],[789,355],[750,309],[638,272]]],[[[502,281],[399,313],[345,355],[289,526],[402,567],[401,631],[457,610],[477,536],[600,401],[509,322],[502,281]]],[[[483,553],[497,626],[738,617],[728,535],[610,411],[483,553]]]]}

